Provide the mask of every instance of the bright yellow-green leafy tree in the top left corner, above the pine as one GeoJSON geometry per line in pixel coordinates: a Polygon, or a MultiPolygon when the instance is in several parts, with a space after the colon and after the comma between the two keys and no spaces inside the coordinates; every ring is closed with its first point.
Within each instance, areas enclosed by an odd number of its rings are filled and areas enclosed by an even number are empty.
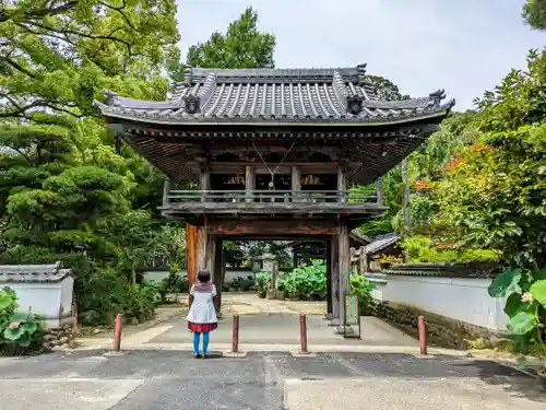
{"type": "Polygon", "coordinates": [[[158,98],[174,0],[20,0],[0,13],[0,117],[93,114],[105,89],[158,98]]]}

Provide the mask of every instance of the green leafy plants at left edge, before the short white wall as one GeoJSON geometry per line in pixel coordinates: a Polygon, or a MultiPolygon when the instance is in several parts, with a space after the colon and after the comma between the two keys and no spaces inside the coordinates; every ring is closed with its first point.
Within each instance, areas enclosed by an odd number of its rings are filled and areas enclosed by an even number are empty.
{"type": "Polygon", "coordinates": [[[43,349],[43,320],[33,313],[17,314],[17,296],[10,288],[0,290],[0,352],[25,354],[43,349]]]}

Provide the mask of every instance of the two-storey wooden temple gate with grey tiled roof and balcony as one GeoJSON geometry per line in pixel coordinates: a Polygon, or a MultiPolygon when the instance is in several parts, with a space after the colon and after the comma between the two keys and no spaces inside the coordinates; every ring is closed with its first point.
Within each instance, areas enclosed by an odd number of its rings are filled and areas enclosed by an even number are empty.
{"type": "Polygon", "coordinates": [[[387,210],[365,187],[438,130],[454,105],[444,97],[378,101],[366,65],[193,68],[167,101],[108,92],[95,106],[118,143],[166,174],[161,210],[187,222],[190,283],[206,268],[222,290],[223,239],[317,241],[339,320],[349,233],[387,210]]]}

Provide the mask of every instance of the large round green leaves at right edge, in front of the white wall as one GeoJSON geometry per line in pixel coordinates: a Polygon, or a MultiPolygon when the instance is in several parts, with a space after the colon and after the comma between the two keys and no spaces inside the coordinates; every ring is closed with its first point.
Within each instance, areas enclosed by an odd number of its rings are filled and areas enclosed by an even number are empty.
{"type": "Polygon", "coordinates": [[[546,269],[505,270],[488,291],[492,297],[507,297],[508,330],[521,353],[520,364],[526,362],[525,355],[535,356],[537,375],[546,390],[546,269]]]}

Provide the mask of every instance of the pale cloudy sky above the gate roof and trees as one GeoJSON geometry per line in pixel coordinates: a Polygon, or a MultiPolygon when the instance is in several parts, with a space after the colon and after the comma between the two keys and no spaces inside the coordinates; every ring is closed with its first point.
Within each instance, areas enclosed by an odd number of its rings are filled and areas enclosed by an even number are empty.
{"type": "Polygon", "coordinates": [[[523,24],[523,0],[178,0],[182,52],[225,31],[247,5],[275,34],[280,68],[367,62],[412,96],[446,89],[456,108],[524,68],[546,34],[523,24]]]}

